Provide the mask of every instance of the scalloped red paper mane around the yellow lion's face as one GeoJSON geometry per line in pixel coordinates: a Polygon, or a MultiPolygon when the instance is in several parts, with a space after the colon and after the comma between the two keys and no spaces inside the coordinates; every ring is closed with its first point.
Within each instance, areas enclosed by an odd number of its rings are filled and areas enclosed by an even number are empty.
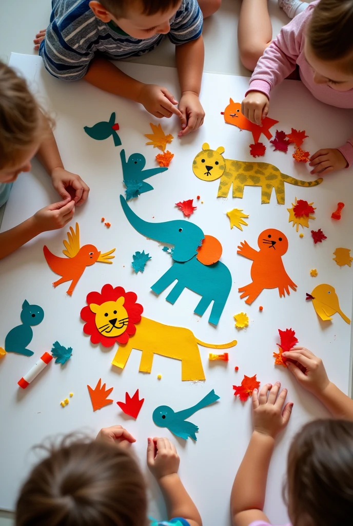
{"type": "Polygon", "coordinates": [[[112,347],[117,341],[118,343],[127,343],[130,336],[136,332],[135,323],[141,321],[141,314],[143,312],[142,305],[136,303],[137,295],[134,292],[125,292],[122,287],[113,288],[112,285],[103,285],[101,292],[89,292],[86,298],[87,304],[81,310],[81,318],[86,321],[84,325],[84,333],[90,335],[92,343],[101,343],[104,347],[112,347]],[[96,315],[91,311],[89,305],[94,303],[102,305],[106,301],[116,301],[121,296],[124,297],[124,309],[126,309],[129,317],[128,325],[125,331],[120,336],[103,336],[96,327],[96,315]]]}

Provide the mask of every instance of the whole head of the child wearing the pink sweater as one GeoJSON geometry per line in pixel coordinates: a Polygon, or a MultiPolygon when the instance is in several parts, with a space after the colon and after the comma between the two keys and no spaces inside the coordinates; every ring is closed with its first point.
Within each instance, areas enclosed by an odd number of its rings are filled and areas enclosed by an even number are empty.
{"type": "Polygon", "coordinates": [[[316,84],[353,88],[353,0],[320,0],[307,27],[305,57],[316,84]]]}

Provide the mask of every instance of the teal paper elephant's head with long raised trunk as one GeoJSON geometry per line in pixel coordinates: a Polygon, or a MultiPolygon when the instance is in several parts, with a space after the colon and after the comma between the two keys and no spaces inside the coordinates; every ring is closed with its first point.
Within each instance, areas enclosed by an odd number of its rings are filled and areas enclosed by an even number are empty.
{"type": "Polygon", "coordinates": [[[175,261],[188,261],[198,254],[197,249],[202,244],[204,234],[194,223],[184,219],[150,223],[137,216],[123,196],[120,196],[120,203],[130,225],[140,234],[160,243],[174,245],[172,257],[175,261]]]}

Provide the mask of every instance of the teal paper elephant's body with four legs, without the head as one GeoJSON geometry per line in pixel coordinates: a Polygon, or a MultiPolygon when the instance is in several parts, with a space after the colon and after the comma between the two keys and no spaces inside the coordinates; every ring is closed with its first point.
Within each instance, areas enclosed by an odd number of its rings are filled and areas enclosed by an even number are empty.
{"type": "Polygon", "coordinates": [[[229,268],[221,261],[213,265],[203,265],[196,257],[185,262],[175,261],[151,289],[155,294],[161,294],[176,279],[177,284],[165,299],[174,304],[184,288],[188,288],[202,296],[194,310],[198,316],[203,316],[213,301],[209,323],[217,325],[232,288],[232,275],[229,268]]]}

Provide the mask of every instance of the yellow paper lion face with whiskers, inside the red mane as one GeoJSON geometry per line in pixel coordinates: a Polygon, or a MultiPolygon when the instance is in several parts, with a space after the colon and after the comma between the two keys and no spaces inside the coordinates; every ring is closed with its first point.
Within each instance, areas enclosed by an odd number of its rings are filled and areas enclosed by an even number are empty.
{"type": "Polygon", "coordinates": [[[123,307],[124,297],[117,301],[106,301],[102,305],[91,303],[89,308],[96,314],[96,327],[103,336],[120,336],[129,322],[128,312],[123,307]]]}

